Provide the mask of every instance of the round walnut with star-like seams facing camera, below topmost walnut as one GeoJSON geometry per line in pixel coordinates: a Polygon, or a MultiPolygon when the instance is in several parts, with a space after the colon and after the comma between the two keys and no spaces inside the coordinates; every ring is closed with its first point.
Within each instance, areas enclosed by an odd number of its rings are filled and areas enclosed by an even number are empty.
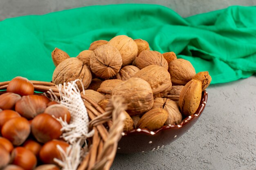
{"type": "Polygon", "coordinates": [[[117,48],[105,44],[95,49],[94,53],[90,58],[92,73],[101,78],[110,78],[119,72],[122,57],[117,48]]]}

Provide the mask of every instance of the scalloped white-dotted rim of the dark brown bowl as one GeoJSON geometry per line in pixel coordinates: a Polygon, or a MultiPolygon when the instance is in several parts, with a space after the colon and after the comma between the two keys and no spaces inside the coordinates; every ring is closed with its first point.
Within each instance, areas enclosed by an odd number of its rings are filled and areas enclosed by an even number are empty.
{"type": "Polygon", "coordinates": [[[206,107],[207,99],[208,99],[208,92],[206,90],[204,90],[204,91],[202,91],[201,101],[200,101],[200,104],[199,104],[196,112],[193,115],[190,115],[190,116],[186,117],[185,119],[183,119],[180,124],[177,124],[177,125],[168,124],[168,125],[165,125],[162,128],[155,130],[155,131],[151,131],[151,130],[148,130],[145,128],[135,128],[128,132],[122,132],[121,135],[127,136],[127,135],[132,135],[132,134],[137,134],[137,133],[144,133],[144,134],[153,136],[163,130],[169,130],[171,128],[182,128],[184,125],[189,124],[193,119],[195,119],[201,115],[201,113],[204,111],[204,108],[206,107]]]}

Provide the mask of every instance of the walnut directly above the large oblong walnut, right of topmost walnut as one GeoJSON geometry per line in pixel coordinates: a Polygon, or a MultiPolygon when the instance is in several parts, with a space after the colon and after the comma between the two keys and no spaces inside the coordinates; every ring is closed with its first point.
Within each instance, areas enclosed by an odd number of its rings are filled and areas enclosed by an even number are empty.
{"type": "Polygon", "coordinates": [[[158,51],[142,51],[138,57],[135,58],[133,65],[137,66],[139,69],[145,68],[150,65],[158,65],[166,68],[168,70],[168,63],[164,59],[164,56],[158,51]]]}

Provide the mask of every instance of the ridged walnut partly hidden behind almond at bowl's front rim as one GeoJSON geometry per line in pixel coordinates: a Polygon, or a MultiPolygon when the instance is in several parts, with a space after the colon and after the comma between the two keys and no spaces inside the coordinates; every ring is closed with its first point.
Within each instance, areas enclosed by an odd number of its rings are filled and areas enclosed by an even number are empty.
{"type": "Polygon", "coordinates": [[[152,108],[163,108],[168,113],[168,118],[165,122],[168,124],[180,124],[182,121],[182,115],[179,110],[179,106],[176,102],[166,98],[155,98],[152,108]]]}

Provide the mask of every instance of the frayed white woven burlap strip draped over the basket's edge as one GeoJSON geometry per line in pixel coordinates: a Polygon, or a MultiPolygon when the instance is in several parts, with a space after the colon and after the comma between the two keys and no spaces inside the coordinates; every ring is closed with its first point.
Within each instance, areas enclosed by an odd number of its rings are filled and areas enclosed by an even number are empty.
{"type": "Polygon", "coordinates": [[[66,106],[71,115],[70,124],[67,124],[66,117],[64,120],[61,117],[55,117],[62,126],[61,131],[63,134],[61,137],[70,144],[66,151],[60,146],[57,146],[61,153],[62,160],[54,158],[54,161],[62,167],[62,170],[77,169],[80,162],[85,157],[86,152],[88,152],[85,140],[88,137],[92,137],[94,134],[94,130],[88,132],[89,117],[83,99],[81,98],[80,90],[76,84],[78,81],[82,84],[81,80],[77,79],[67,84],[64,83],[63,86],[62,84],[57,85],[60,100],[51,89],[48,91],[52,100],[66,106]],[[84,148],[81,147],[83,144],[85,144],[84,148]]]}

